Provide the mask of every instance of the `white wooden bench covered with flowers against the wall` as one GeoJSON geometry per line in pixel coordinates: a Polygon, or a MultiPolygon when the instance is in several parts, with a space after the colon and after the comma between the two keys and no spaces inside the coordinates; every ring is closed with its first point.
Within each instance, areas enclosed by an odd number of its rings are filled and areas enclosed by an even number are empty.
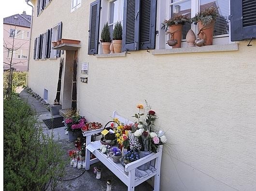
{"type": "MultiPolygon", "coordinates": [[[[122,123],[132,123],[129,120],[119,116],[115,111],[113,117],[117,117],[122,123]]],[[[113,160],[106,154],[100,152],[100,141],[91,142],[91,136],[96,133],[100,133],[103,130],[96,129],[92,131],[86,131],[83,133],[86,136],[86,150],[85,150],[85,170],[90,169],[90,165],[100,161],[109,170],[111,170],[116,177],[118,177],[122,182],[128,186],[128,191],[134,191],[134,188],[146,181],[151,177],[155,177],[154,181],[154,191],[159,191],[160,187],[160,167],[163,146],[160,145],[156,153],[151,153],[137,161],[127,164],[123,167],[122,164],[116,164],[113,160]],[[97,158],[90,160],[90,154],[93,153],[97,158]],[[148,170],[139,170],[137,167],[141,166],[150,161],[150,168],[148,170]]]]}

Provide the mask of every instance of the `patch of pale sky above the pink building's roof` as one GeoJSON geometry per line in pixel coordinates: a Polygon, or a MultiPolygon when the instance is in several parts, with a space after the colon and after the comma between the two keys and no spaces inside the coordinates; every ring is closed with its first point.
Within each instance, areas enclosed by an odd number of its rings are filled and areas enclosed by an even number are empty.
{"type": "MultiPolygon", "coordinates": [[[[22,14],[26,11],[27,14],[31,15],[32,8],[27,5],[25,0],[1,0],[1,17],[11,16],[13,14],[22,14]]],[[[29,4],[31,4],[29,2],[29,4]]]]}

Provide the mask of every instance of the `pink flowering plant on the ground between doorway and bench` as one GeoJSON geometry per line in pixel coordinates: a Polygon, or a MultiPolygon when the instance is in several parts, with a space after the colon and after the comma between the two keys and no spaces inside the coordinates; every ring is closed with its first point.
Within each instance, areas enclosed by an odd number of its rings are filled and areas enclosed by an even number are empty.
{"type": "Polygon", "coordinates": [[[85,123],[85,117],[79,114],[74,114],[70,118],[65,119],[66,129],[72,132],[80,131],[85,126],[85,123]]]}

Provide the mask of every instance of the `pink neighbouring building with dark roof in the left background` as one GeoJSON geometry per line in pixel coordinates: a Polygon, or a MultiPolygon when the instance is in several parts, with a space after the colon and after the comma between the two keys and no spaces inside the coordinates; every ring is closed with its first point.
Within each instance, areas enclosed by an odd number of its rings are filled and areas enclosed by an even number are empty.
{"type": "MultiPolygon", "coordinates": [[[[31,15],[27,15],[24,11],[23,14],[14,14],[3,18],[3,43],[4,46],[12,48],[14,41],[14,51],[12,67],[17,71],[26,71],[28,66],[28,46],[30,35],[30,20],[31,15]],[[13,38],[13,35],[14,38],[13,38]]],[[[12,53],[3,48],[3,69],[9,69],[10,58],[12,53]]]]}

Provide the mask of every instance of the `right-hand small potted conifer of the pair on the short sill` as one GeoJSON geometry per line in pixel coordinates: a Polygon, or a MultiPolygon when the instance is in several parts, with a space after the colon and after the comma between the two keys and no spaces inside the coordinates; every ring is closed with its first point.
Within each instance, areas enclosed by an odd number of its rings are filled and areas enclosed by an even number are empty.
{"type": "Polygon", "coordinates": [[[121,22],[117,22],[114,25],[114,30],[113,30],[114,53],[121,53],[122,39],[123,39],[123,28],[122,28],[121,22]]]}

